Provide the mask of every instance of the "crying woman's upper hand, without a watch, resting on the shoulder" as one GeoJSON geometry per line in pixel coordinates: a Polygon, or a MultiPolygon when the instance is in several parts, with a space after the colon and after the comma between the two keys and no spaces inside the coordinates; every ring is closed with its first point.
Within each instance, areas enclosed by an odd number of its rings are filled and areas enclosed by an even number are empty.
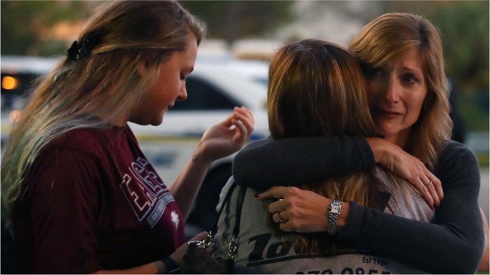
{"type": "Polygon", "coordinates": [[[431,208],[439,207],[444,198],[441,181],[418,158],[381,138],[366,138],[376,162],[412,184],[431,208]],[[430,182],[432,182],[430,184],[430,182]]]}

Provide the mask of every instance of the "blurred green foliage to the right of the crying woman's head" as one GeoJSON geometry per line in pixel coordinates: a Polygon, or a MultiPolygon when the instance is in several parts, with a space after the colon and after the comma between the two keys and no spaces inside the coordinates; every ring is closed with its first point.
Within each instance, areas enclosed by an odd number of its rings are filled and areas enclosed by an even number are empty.
{"type": "Polygon", "coordinates": [[[488,131],[488,2],[441,7],[433,19],[441,31],[448,77],[459,93],[458,110],[471,131],[488,131]]]}

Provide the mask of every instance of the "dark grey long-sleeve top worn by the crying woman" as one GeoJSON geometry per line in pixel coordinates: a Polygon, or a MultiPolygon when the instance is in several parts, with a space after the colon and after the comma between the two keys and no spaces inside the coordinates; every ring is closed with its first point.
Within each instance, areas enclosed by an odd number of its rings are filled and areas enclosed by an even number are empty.
{"type": "MultiPolygon", "coordinates": [[[[371,147],[362,137],[269,139],[250,144],[235,156],[233,176],[238,185],[266,189],[374,166],[371,147]]],[[[476,158],[463,144],[448,141],[433,172],[442,182],[444,199],[430,223],[351,202],[338,236],[430,273],[474,273],[484,245],[476,158]]]]}

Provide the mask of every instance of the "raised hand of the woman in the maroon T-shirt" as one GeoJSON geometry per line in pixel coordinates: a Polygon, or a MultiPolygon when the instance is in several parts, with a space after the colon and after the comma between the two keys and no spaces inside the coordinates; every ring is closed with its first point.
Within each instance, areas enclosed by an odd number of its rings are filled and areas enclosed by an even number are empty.
{"type": "Polygon", "coordinates": [[[250,139],[254,123],[254,116],[249,109],[235,107],[232,115],[204,133],[197,146],[198,155],[212,162],[233,154],[250,139]]]}

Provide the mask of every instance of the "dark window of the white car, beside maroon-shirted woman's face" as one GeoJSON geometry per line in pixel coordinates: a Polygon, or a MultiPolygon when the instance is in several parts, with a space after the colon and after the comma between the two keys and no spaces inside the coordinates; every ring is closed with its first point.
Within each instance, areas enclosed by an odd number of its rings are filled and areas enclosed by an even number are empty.
{"type": "Polygon", "coordinates": [[[229,110],[239,104],[227,96],[219,87],[194,76],[186,81],[187,99],[176,102],[172,111],[184,110],[229,110]]]}

